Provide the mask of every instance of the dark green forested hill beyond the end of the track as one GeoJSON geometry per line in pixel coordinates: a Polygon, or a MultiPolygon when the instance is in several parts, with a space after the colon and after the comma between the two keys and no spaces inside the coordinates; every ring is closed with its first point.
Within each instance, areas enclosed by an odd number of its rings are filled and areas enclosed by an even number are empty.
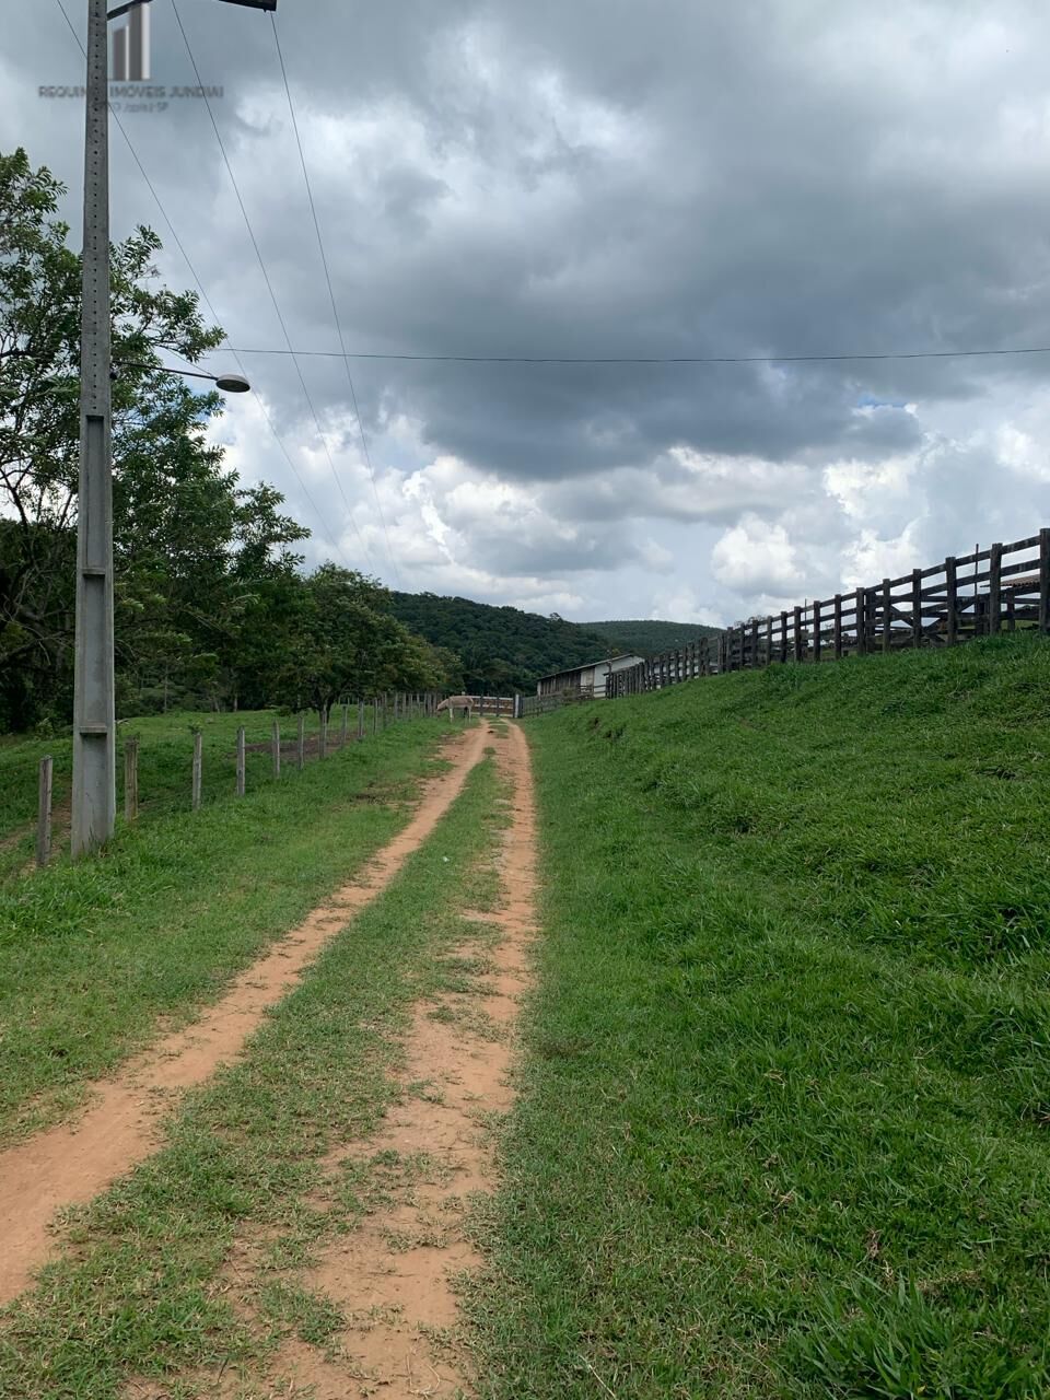
{"type": "MultiPolygon", "coordinates": [[[[468,692],[507,694],[532,690],[538,676],[582,666],[609,654],[605,634],[563,617],[540,617],[518,608],[493,608],[469,598],[392,594],[391,612],[412,631],[463,662],[468,692]]],[[[626,647],[613,647],[624,651],[626,647]]]]}

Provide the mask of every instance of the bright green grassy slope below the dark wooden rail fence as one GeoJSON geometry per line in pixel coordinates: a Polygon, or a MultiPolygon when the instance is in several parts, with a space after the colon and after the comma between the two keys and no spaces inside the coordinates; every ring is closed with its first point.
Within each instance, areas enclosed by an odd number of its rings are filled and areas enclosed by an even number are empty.
{"type": "Polygon", "coordinates": [[[489,1400],[1050,1394],[1050,645],[526,724],[489,1400]]]}

